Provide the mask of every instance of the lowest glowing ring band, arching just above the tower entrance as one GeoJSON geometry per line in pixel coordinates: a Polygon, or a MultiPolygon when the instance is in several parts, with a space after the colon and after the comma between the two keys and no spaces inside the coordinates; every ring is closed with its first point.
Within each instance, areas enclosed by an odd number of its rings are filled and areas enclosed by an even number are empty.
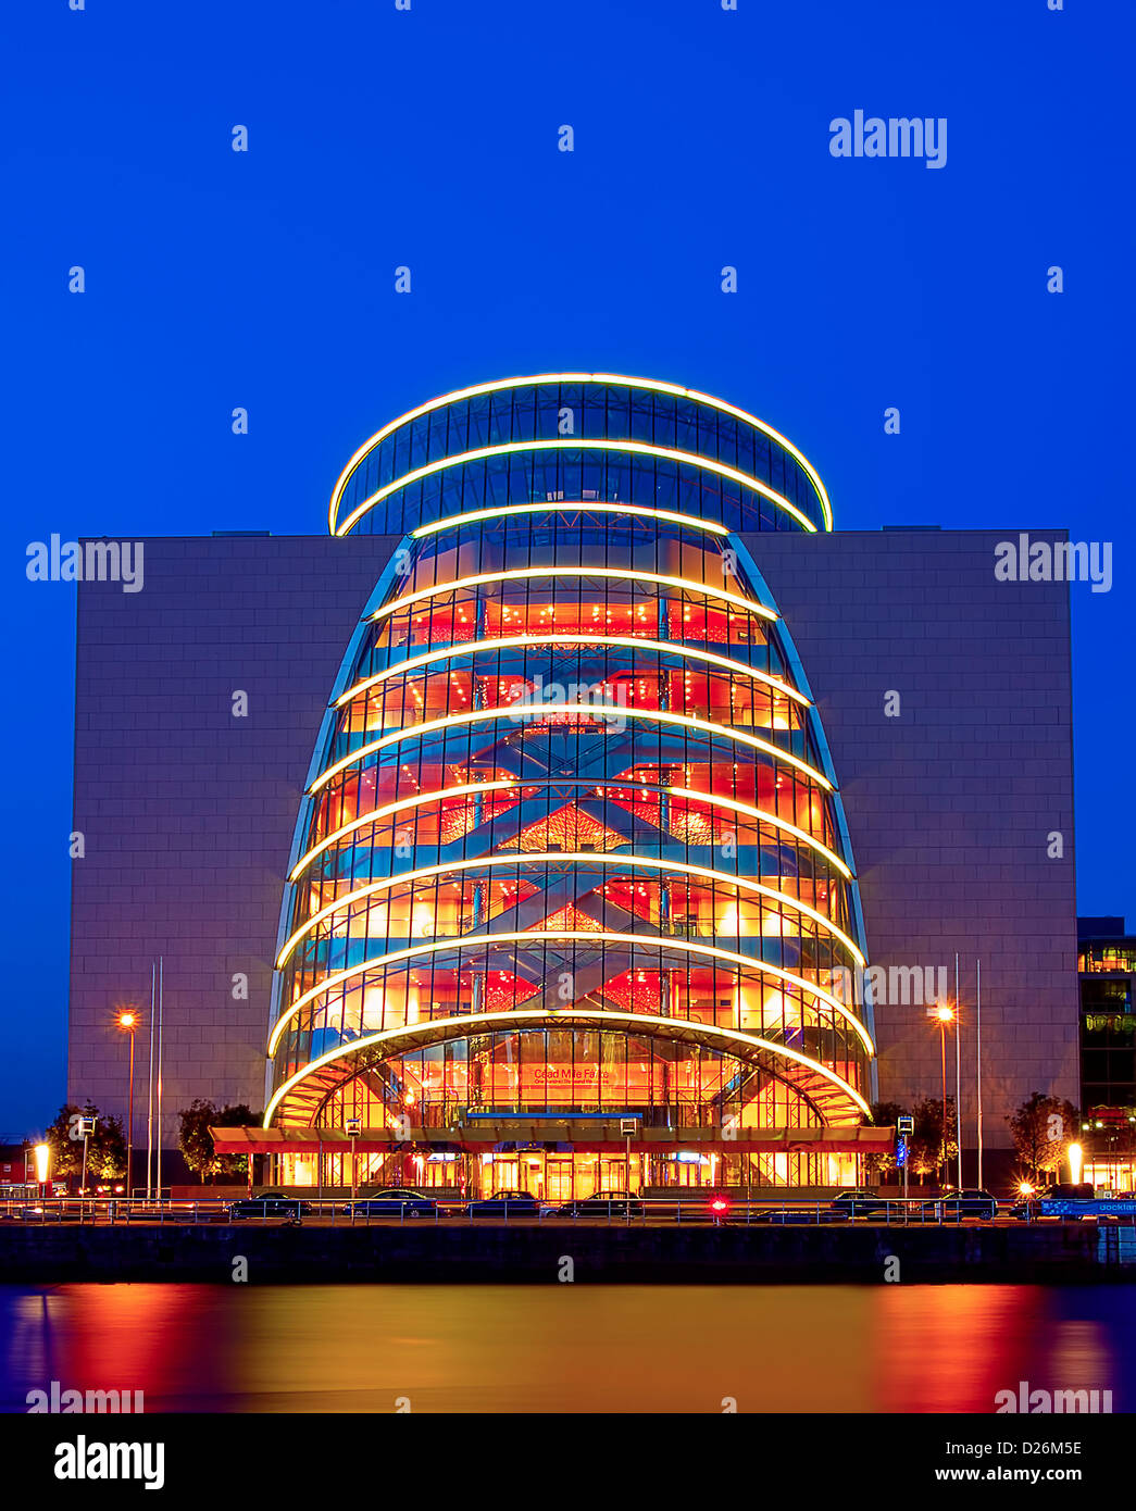
{"type": "MultiPolygon", "coordinates": [[[[527,1023],[562,1023],[562,1021],[586,1021],[597,1023],[603,1027],[609,1020],[613,1027],[639,1027],[647,1031],[648,1037],[659,1038],[696,1038],[698,1041],[707,1043],[712,1047],[715,1044],[736,1044],[746,1050],[761,1050],[763,1053],[773,1055],[778,1059],[789,1059],[805,1070],[814,1071],[823,1076],[826,1080],[849,1097],[855,1106],[864,1114],[864,1117],[872,1121],[872,1109],[867,1102],[860,1095],[855,1086],[850,1086],[843,1076],[838,1076],[828,1065],[822,1065],[820,1061],[810,1059],[808,1055],[801,1055],[798,1050],[790,1049],[787,1044],[773,1044],[770,1040],[763,1040],[755,1034],[742,1034],[739,1029],[719,1029],[708,1023],[698,1023],[692,1018],[660,1018],[647,1012],[619,1012],[616,1009],[607,1011],[576,1011],[573,1008],[560,1008],[553,1012],[544,1012],[539,1009],[520,1009],[517,1012],[473,1012],[465,1014],[459,1018],[437,1018],[434,1023],[428,1024],[431,1029],[438,1032],[431,1035],[434,1041],[443,1038],[465,1038],[470,1032],[477,1032],[483,1027],[514,1027],[518,1021],[527,1023]]],[[[273,1092],[267,1108],[264,1109],[264,1127],[272,1126],[272,1114],[276,1111],[284,1097],[295,1089],[302,1080],[314,1074],[317,1070],[323,1070],[326,1065],[334,1064],[337,1059],[346,1059],[349,1055],[357,1053],[361,1049],[370,1049],[373,1044],[394,1044],[397,1040],[406,1040],[414,1035],[415,1029],[421,1032],[423,1024],[406,1026],[400,1029],[384,1029],[381,1034],[369,1034],[366,1038],[353,1040],[350,1044],[340,1044],[334,1050],[328,1050],[317,1059],[308,1061],[302,1070],[298,1070],[295,1076],[290,1076],[278,1091],[273,1092]]],[[[344,1077],[349,1079],[349,1077],[344,1077]]]]}

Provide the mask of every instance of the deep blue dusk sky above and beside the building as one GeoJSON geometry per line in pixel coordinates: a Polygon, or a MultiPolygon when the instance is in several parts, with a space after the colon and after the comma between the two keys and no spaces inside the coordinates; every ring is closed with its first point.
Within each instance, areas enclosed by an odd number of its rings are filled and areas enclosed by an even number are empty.
{"type": "Polygon", "coordinates": [[[1128,0],[9,0],[0,41],[0,1136],[63,1098],[76,589],[27,544],[320,533],[361,440],[486,378],[721,394],[838,529],[1113,541],[1073,589],[1079,893],[1136,920],[1128,0]],[[857,109],[946,116],[946,166],[834,159],[857,109]]]}

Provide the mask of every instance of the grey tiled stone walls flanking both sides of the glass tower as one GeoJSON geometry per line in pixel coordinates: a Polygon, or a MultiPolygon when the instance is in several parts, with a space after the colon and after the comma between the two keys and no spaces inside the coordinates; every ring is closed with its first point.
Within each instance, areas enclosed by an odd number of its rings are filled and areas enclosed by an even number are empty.
{"type": "MultiPolygon", "coordinates": [[[[997,583],[999,538],[748,538],[825,721],[873,963],[946,967],[953,991],[962,956],[967,1086],[982,958],[991,1142],[1005,1142],[1005,1106],[1035,1088],[1076,1100],[1077,1023],[1068,597],[1059,585],[997,583]],[[888,692],[897,718],[885,716],[888,692]],[[1053,831],[1062,860],[1047,857],[1053,831]]],[[[124,1111],[113,1009],[148,1006],[163,955],[166,1142],[193,1097],[261,1106],[301,790],[394,544],[156,538],[142,592],[80,588],[74,828],[86,855],[73,875],[73,1100],[124,1111]],[[237,691],[246,718],[233,716],[237,691]],[[234,997],[240,976],[246,999],[234,997]]],[[[882,1003],[876,1026],[881,1095],[937,1095],[925,1006],[882,1003]]],[[[139,1050],[145,1067],[145,1041],[139,1050]]],[[[973,1118],[965,1091],[964,1114],[973,1118]]],[[[136,1130],[139,1117],[145,1094],[136,1130]]]]}

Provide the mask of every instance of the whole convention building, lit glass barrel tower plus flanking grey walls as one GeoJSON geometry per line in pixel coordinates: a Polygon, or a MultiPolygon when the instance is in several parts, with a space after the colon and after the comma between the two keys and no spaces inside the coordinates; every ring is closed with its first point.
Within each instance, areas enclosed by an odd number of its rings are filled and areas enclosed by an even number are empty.
{"type": "Polygon", "coordinates": [[[289,1183],[349,1129],[367,1183],[850,1182],[943,1002],[1005,1148],[1076,1100],[1077,929],[1068,589],[1003,536],[834,533],[754,416],[574,373],[384,426],[323,538],[145,541],[80,588],[69,1095],[160,955],[165,1142],[248,1102],[289,1183]]]}

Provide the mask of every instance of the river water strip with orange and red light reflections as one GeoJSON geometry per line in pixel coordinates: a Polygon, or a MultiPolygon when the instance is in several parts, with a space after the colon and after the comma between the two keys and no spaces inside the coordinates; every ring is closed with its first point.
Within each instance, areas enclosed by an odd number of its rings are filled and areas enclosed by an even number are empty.
{"type": "Polygon", "coordinates": [[[5,1411],[1131,1411],[1136,1286],[5,1286],[0,1348],[5,1411]]]}

